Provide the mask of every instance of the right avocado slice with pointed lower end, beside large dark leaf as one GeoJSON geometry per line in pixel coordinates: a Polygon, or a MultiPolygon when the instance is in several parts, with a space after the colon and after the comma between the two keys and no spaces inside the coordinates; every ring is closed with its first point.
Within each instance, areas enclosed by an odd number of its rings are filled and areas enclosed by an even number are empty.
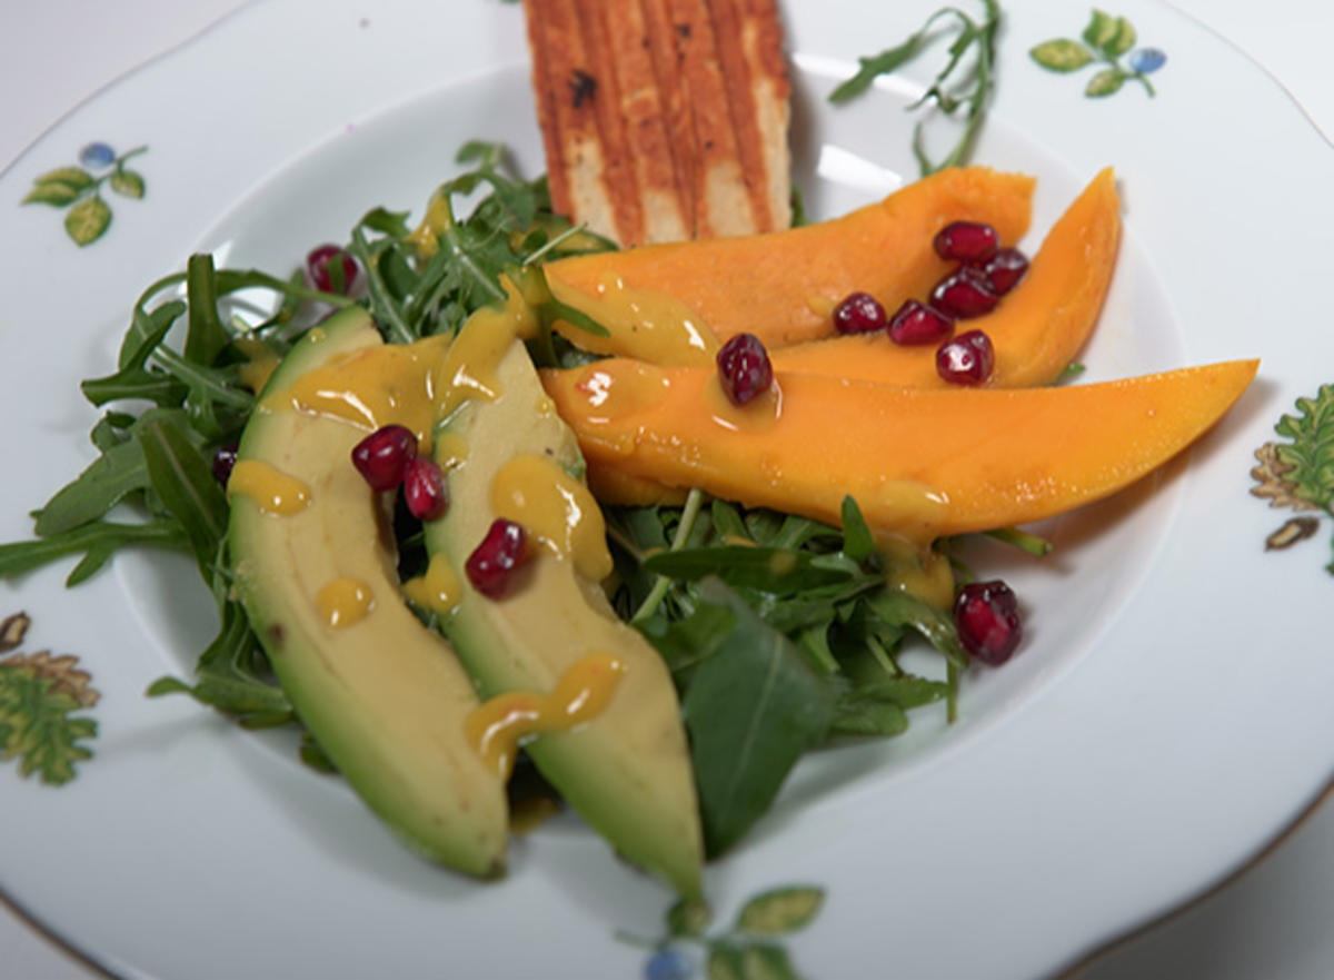
{"type": "MultiPolygon", "coordinates": [[[[556,415],[520,342],[510,346],[495,378],[495,401],[464,402],[438,427],[464,442],[463,462],[447,477],[450,510],[426,531],[427,550],[444,554],[460,582],[462,598],[443,628],[484,697],[550,692],[595,652],[627,666],[602,714],[524,748],[623,857],[683,896],[699,897],[703,846],[694,773],[676,690],[658,652],[616,617],[599,583],[546,547],[535,549],[522,586],[502,599],[468,583],[464,562],[495,518],[490,487],[502,466],[518,455],[547,455],[567,473],[583,474],[574,433],[556,415]]],[[[436,441],[442,466],[455,450],[444,443],[436,441]]]]}

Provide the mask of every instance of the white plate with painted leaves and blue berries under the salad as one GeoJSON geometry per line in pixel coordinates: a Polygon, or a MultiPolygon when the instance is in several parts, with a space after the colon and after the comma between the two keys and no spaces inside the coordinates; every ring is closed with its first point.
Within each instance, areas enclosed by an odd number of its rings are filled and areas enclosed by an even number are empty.
{"type": "MultiPolygon", "coordinates": [[[[371,204],[420,210],[474,136],[540,168],[518,8],[450,7],[248,8],[0,176],[0,538],[27,535],[25,510],[91,459],[76,385],[107,371],[133,296],[189,251],[283,268],[371,204]],[[111,228],[80,250],[59,212],[16,204],[93,140],[148,144],[135,164],[148,195],[111,198],[111,228]]],[[[899,107],[932,61],[839,109],[822,104],[823,68],[896,43],[934,7],[859,7],[787,4],[798,176],[820,214],[866,199],[811,172],[823,144],[914,172],[899,107]]],[[[1113,11],[1167,52],[1153,99],[1129,84],[1091,100],[1094,69],[1027,57],[1078,37],[1082,8],[1007,13],[974,159],[1039,175],[1038,235],[1097,168],[1122,178],[1126,243],[1087,378],[1258,354],[1261,381],[1189,465],[1053,527],[1055,559],[986,559],[1025,597],[1030,641],[968,678],[960,724],[919,713],[907,740],[822,754],[711,868],[715,929],[762,889],[826,889],[786,943],[815,977],[1058,969],[1237,867],[1334,760],[1334,665],[1317,640],[1330,522],[1266,554],[1290,514],[1247,493],[1274,422],[1331,379],[1334,344],[1305,328],[1327,318],[1309,284],[1323,282],[1334,218],[1329,147],[1250,63],[1161,5],[1113,11]]],[[[143,698],[211,632],[187,562],[127,557],[76,591],[67,570],[0,585],[0,617],[27,609],[25,649],[81,657],[103,696],[97,754],[61,789],[0,769],[0,887],[75,948],[128,976],[644,973],[650,953],[616,933],[659,937],[670,896],[575,821],[519,840],[500,885],[428,868],[281,740],[143,698]]]]}

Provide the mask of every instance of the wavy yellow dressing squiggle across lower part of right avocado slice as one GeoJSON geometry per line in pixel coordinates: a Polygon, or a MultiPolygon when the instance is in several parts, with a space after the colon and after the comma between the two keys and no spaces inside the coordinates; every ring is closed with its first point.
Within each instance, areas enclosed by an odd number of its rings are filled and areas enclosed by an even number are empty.
{"type": "Polygon", "coordinates": [[[508,778],[522,738],[592,721],[607,709],[624,672],[610,653],[591,653],[571,665],[550,694],[515,690],[484,701],[464,718],[463,730],[483,762],[508,778]]]}

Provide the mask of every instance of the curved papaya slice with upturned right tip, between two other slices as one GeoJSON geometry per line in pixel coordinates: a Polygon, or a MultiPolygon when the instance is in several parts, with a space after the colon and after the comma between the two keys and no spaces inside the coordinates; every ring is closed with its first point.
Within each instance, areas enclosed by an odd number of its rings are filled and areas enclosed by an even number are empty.
{"type": "MultiPolygon", "coordinates": [[[[1051,226],[1027,275],[995,311],[959,324],[959,330],[982,330],[991,338],[996,352],[992,387],[1050,385],[1074,360],[1102,312],[1119,242],[1121,199],[1109,167],[1051,226]]],[[[878,385],[948,385],[936,374],[935,344],[900,346],[883,332],[799,343],[774,351],[772,362],[778,371],[878,385]]]]}

